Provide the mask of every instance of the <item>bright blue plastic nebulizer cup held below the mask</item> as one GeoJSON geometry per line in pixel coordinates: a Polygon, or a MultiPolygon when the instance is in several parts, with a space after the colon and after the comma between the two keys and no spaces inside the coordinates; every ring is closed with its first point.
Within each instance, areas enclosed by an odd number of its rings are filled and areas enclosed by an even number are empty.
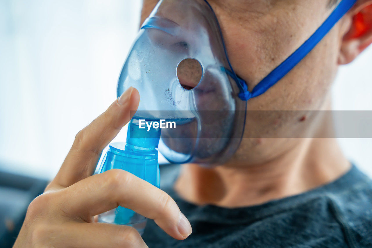
{"type": "MultiPolygon", "coordinates": [[[[128,126],[126,143],[110,144],[99,173],[110,169],[123,169],[160,187],[158,151],[156,150],[160,133],[160,128],[151,128],[147,131],[146,128],[140,128],[138,120],[132,119],[128,126]]],[[[100,214],[98,222],[132,226],[141,235],[146,226],[144,216],[121,206],[100,214]]]]}

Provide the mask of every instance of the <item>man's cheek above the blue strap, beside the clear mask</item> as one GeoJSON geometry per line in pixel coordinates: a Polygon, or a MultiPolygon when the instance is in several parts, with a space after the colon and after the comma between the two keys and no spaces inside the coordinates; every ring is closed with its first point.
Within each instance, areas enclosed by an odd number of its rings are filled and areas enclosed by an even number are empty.
{"type": "Polygon", "coordinates": [[[252,90],[323,23],[320,1],[278,1],[264,12],[229,13],[215,7],[235,72],[252,90]],[[273,5],[273,6],[274,6],[273,5]]]}

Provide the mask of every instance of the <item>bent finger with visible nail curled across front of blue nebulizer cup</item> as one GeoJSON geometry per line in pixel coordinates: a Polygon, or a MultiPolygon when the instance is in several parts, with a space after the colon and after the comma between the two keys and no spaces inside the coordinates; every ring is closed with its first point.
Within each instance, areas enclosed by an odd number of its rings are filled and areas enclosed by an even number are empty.
{"type": "Polygon", "coordinates": [[[189,221],[168,194],[121,169],[94,175],[61,190],[60,201],[63,212],[86,220],[120,205],[154,219],[173,238],[185,239],[192,232],[189,221]]]}

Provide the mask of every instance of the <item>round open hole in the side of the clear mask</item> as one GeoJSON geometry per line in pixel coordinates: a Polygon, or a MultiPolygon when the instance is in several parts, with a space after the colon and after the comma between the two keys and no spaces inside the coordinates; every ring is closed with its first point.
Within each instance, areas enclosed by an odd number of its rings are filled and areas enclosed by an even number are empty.
{"type": "Polygon", "coordinates": [[[177,79],[180,85],[186,90],[195,88],[203,76],[203,67],[194,58],[186,58],[177,66],[177,79]]]}

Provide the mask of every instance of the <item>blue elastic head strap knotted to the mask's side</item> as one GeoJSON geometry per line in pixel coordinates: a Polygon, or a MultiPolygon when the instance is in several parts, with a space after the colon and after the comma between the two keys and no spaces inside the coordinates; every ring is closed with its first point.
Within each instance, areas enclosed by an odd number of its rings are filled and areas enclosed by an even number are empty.
{"type": "MultiPolygon", "coordinates": [[[[280,79],[289,73],[310,51],[324,38],[325,35],[333,28],[334,25],[353,7],[357,0],[342,0],[340,4],[334,9],[331,15],[325,20],[320,28],[315,31],[311,37],[305,41],[291,56],[289,56],[283,63],[270,72],[260,83],[258,83],[252,92],[248,91],[246,82],[240,79],[232,70],[227,73],[232,79],[237,82],[240,93],[239,98],[247,101],[253,97],[260,96],[265,93],[270,87],[275,85],[280,79]]],[[[226,50],[226,49],[225,49],[226,50]]],[[[230,63],[230,62],[229,62],[230,63]]]]}

